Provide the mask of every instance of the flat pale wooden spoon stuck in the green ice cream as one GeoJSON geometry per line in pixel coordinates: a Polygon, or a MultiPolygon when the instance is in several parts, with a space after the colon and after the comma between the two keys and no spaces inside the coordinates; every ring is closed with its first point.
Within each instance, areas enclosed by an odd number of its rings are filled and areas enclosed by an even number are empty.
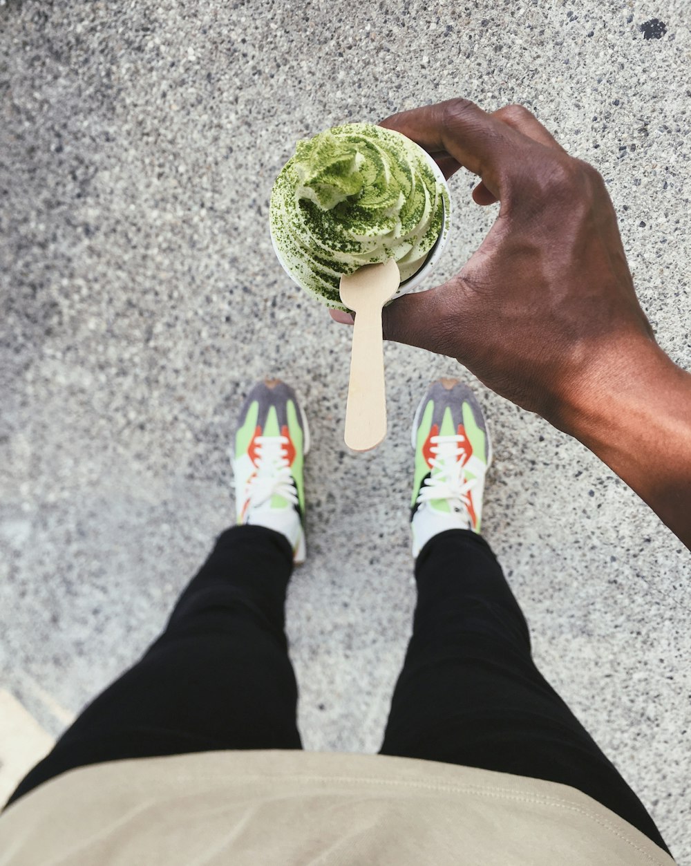
{"type": "Polygon", "coordinates": [[[365,265],[340,278],[340,300],[357,313],[345,404],[345,444],[353,451],[376,448],[386,436],[382,307],[400,284],[401,272],[394,259],[365,265]]]}

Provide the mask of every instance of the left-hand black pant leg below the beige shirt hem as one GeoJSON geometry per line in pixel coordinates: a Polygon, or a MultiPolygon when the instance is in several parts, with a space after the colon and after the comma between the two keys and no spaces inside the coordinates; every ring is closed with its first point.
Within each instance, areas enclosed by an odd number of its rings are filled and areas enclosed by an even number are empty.
{"type": "Polygon", "coordinates": [[[10,802],[76,766],[216,749],[297,749],[287,540],[223,533],[145,656],[82,712],[10,802]]]}

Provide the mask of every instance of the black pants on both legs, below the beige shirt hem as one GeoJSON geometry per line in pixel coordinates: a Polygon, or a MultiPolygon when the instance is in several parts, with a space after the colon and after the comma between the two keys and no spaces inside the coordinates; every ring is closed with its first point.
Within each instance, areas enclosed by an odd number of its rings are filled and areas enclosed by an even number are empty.
{"type": "MultiPolygon", "coordinates": [[[[165,632],[97,697],[10,803],[76,766],[216,749],[299,749],[279,533],[223,533],[165,632]]],[[[643,804],[535,667],[494,553],[449,530],[417,558],[413,635],[383,754],[572,785],[668,850],[643,804]]]]}

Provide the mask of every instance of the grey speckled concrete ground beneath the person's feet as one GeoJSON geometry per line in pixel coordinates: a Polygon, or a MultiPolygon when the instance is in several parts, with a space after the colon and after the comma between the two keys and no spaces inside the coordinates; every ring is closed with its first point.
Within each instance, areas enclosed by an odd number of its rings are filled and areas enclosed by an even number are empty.
{"type": "MultiPolygon", "coordinates": [[[[459,371],[388,346],[390,434],[346,451],[350,333],[275,261],[273,178],[296,139],[342,120],[518,101],[604,174],[643,306],[691,367],[687,11],[0,5],[0,663],[42,727],[59,733],[161,628],[230,520],[236,409],[277,373],[314,437],[310,559],[288,601],[304,740],[377,749],[414,600],[410,418],[430,378],[459,371]]],[[[494,218],[471,185],[452,185],[442,276],[494,218]]],[[[538,661],[688,866],[688,553],[581,445],[478,391],[496,452],[484,525],[538,661]]]]}

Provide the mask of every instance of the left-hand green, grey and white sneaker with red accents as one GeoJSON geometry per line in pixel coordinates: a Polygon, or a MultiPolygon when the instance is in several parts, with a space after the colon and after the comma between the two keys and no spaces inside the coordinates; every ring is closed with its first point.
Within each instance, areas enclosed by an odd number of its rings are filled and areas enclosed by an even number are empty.
{"type": "Polygon", "coordinates": [[[309,450],[307,418],[293,389],[279,379],[259,382],[240,412],[235,451],[236,514],[240,526],[268,527],[305,561],[304,456],[309,450]]]}

